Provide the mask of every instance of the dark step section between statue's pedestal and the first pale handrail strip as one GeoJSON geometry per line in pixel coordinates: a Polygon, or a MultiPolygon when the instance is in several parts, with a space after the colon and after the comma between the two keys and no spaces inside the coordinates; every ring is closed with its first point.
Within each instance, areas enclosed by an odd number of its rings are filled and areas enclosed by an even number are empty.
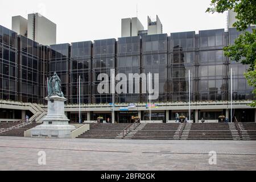
{"type": "Polygon", "coordinates": [[[77,138],[116,138],[119,133],[129,126],[129,123],[94,123],[90,130],[82,133],[77,138]]]}

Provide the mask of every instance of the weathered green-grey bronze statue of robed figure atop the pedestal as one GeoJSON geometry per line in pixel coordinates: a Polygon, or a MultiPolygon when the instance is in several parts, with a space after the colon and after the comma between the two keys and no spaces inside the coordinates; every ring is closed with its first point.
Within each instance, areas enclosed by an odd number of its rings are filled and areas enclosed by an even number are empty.
{"type": "Polygon", "coordinates": [[[48,97],[60,96],[64,97],[63,92],[61,92],[60,77],[54,72],[53,76],[49,79],[48,85],[48,97]]]}

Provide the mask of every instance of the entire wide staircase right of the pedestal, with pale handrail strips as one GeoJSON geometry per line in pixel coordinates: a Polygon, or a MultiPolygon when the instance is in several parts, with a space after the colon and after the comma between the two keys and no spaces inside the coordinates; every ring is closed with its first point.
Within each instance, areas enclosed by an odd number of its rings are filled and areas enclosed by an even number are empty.
{"type": "Polygon", "coordinates": [[[94,123],[77,138],[256,140],[256,123],[138,123],[126,130],[130,125],[94,123]]]}

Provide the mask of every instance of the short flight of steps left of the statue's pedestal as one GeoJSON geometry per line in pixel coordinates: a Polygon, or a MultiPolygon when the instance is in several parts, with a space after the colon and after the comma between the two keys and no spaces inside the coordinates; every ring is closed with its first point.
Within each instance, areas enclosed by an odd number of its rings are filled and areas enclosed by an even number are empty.
{"type": "Polygon", "coordinates": [[[22,122],[22,123],[6,123],[5,125],[0,123],[0,127],[1,127],[0,136],[24,137],[24,131],[32,129],[33,127],[36,127],[41,124],[42,123],[22,122]]]}

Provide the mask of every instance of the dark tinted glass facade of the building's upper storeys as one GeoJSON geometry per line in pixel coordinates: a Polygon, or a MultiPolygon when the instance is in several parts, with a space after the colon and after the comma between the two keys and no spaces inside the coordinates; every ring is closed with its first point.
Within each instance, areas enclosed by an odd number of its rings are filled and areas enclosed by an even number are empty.
{"type": "MultiPolygon", "coordinates": [[[[108,93],[98,93],[98,75],[106,73],[110,80],[110,69],[114,69],[127,78],[129,73],[159,73],[159,98],[153,102],[188,102],[189,70],[192,101],[228,101],[232,68],[233,100],[253,100],[253,88],[243,76],[247,65],[229,61],[223,53],[224,46],[239,34],[230,28],[229,32],[177,32],[47,47],[0,26],[0,99],[46,104],[47,77],[56,72],[67,104],[78,103],[79,76],[82,104],[108,104],[112,102],[110,88],[108,93]]],[[[115,93],[115,102],[148,102],[141,86],[139,93],[136,89],[127,83],[127,93],[115,93]]]]}

